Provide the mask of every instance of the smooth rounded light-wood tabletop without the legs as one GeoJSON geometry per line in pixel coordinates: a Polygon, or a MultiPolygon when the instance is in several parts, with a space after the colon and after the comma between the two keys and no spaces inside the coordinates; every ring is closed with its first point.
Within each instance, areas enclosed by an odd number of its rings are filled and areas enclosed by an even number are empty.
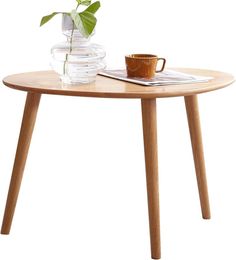
{"type": "Polygon", "coordinates": [[[199,76],[213,77],[204,83],[145,87],[120,80],[97,76],[96,82],[84,85],[65,85],[53,71],[37,71],[10,75],[3,83],[13,89],[41,94],[103,98],[159,98],[189,96],[226,87],[234,82],[228,73],[203,70],[173,68],[176,71],[199,76]]]}

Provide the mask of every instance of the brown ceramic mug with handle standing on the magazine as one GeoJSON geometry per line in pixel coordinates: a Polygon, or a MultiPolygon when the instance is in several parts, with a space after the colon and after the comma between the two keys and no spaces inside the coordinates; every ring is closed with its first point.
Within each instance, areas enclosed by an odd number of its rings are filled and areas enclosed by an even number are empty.
{"type": "Polygon", "coordinates": [[[158,58],[152,54],[131,54],[125,56],[126,70],[128,77],[151,79],[156,72],[161,72],[165,68],[166,59],[158,58]],[[162,60],[162,67],[156,70],[158,61],[162,60]]]}

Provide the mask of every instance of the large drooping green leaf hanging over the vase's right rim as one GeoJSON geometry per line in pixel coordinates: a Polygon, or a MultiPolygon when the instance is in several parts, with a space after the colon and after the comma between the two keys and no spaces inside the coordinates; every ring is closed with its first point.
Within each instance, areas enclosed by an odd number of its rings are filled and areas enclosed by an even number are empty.
{"type": "Polygon", "coordinates": [[[76,10],[72,10],[71,18],[73,19],[76,28],[78,28],[86,38],[92,34],[97,23],[97,19],[93,13],[87,12],[86,10],[81,13],[76,13],[76,10]]]}

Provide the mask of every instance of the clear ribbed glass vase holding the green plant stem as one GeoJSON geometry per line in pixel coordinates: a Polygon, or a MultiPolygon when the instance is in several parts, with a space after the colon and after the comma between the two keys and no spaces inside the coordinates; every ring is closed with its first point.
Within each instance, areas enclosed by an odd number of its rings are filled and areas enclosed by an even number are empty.
{"type": "Polygon", "coordinates": [[[86,84],[95,81],[99,71],[105,68],[106,54],[102,46],[90,43],[94,33],[89,38],[84,37],[74,27],[68,15],[63,15],[62,32],[67,41],[52,47],[53,70],[66,84],[86,84]]]}

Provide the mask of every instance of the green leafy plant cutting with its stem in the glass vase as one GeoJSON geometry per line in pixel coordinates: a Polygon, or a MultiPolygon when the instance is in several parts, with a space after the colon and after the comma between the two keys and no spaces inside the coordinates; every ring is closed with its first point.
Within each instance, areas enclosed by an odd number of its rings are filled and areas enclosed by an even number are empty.
{"type": "Polygon", "coordinates": [[[41,19],[41,22],[40,22],[40,26],[42,26],[58,14],[68,15],[72,19],[73,28],[71,30],[69,53],[66,54],[64,66],[63,66],[63,74],[64,75],[66,74],[66,70],[67,70],[68,57],[72,53],[74,29],[75,28],[78,29],[84,37],[88,38],[92,34],[92,32],[94,31],[94,28],[97,24],[97,19],[95,17],[95,13],[100,8],[100,2],[99,1],[92,3],[91,0],[76,0],[76,2],[77,2],[76,9],[73,9],[70,13],[68,13],[68,12],[53,12],[50,15],[44,16],[41,19]],[[82,12],[78,12],[78,8],[81,5],[87,6],[87,8],[82,12]]]}

